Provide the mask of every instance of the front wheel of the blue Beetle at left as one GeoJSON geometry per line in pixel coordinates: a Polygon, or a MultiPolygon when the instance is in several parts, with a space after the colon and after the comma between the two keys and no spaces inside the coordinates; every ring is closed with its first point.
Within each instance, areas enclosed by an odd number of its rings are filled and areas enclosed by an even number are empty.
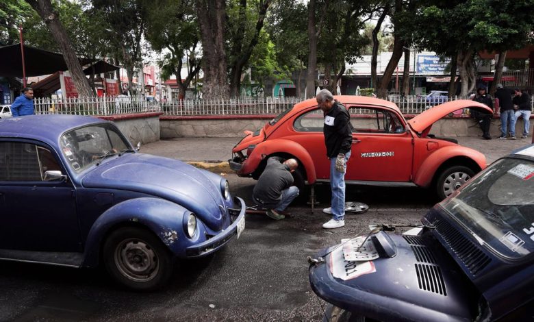
{"type": "Polygon", "coordinates": [[[134,290],[154,290],[168,282],[173,259],[148,230],[120,228],[106,239],[103,260],[114,280],[134,290]]]}

